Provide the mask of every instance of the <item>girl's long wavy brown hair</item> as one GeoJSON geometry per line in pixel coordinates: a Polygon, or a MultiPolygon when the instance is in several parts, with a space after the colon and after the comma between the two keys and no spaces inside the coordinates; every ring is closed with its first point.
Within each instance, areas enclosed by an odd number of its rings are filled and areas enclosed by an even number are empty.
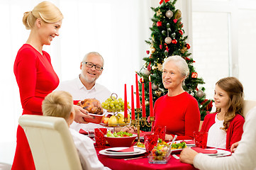
{"type": "MultiPolygon", "coordinates": [[[[223,130],[227,130],[230,121],[235,118],[235,115],[239,114],[243,116],[243,84],[235,77],[226,77],[220,79],[216,85],[226,91],[229,96],[228,111],[225,113],[223,130]]],[[[216,112],[220,112],[221,108],[217,108],[216,112]]]]}

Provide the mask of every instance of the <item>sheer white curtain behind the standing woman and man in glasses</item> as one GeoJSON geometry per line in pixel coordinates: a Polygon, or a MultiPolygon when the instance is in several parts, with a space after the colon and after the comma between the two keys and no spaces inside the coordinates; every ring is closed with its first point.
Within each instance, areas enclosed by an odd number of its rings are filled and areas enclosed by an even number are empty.
{"type": "MultiPolygon", "coordinates": [[[[16,128],[22,113],[13,62],[26,42],[29,30],[23,13],[40,1],[1,0],[1,119],[0,162],[12,163],[16,128]]],[[[77,77],[87,52],[99,52],[105,60],[99,83],[123,97],[123,86],[135,84],[135,71],[143,65],[150,36],[151,2],[148,0],[53,0],[64,15],[60,37],[44,50],[50,53],[60,81],[77,77]]]]}

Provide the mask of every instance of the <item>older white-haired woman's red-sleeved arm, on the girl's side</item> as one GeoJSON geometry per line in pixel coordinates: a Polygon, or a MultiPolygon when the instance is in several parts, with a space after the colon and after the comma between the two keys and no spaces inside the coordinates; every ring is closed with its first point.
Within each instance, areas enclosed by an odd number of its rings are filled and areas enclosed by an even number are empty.
{"type": "Polygon", "coordinates": [[[185,114],[185,135],[178,136],[177,140],[193,140],[193,133],[199,131],[200,111],[196,100],[189,103],[185,114]]]}

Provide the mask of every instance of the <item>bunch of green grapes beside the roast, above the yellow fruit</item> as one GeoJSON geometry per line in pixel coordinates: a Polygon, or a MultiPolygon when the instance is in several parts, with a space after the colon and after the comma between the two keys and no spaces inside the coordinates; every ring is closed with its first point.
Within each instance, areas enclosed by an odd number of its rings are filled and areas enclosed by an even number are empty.
{"type": "MultiPolygon", "coordinates": [[[[119,112],[123,111],[124,101],[122,98],[117,99],[115,96],[111,96],[101,103],[101,106],[108,112],[119,112]]],[[[127,102],[127,108],[130,109],[129,102],[127,102]]]]}

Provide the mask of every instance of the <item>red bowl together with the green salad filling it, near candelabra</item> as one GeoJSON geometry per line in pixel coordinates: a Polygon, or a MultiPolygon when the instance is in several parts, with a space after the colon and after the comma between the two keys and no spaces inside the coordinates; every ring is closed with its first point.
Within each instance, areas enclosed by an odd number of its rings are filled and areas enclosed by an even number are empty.
{"type": "Polygon", "coordinates": [[[106,141],[111,147],[130,147],[137,135],[129,132],[111,132],[105,135],[106,141]]]}

